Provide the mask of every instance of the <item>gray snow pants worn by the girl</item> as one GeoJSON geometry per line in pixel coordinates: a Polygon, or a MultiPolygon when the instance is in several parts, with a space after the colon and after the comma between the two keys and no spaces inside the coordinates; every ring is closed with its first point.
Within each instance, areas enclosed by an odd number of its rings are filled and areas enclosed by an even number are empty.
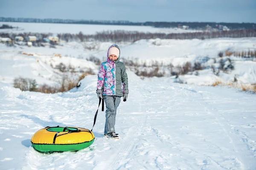
{"type": "Polygon", "coordinates": [[[104,134],[115,131],[116,109],[121,102],[121,96],[103,96],[106,104],[106,122],[104,134]]]}

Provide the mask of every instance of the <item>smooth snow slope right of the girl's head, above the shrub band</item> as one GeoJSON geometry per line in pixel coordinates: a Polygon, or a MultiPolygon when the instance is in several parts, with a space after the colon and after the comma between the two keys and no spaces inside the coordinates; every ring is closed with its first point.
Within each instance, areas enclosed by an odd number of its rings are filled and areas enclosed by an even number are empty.
{"type": "MultiPolygon", "coordinates": [[[[220,51],[256,50],[256,38],[217,38],[192,40],[139,40],[121,48],[121,55],[126,59],[138,59],[148,63],[155,60],[164,65],[182,65],[196,57],[218,57],[220,51]]],[[[105,50],[106,51],[106,50],[105,50]]],[[[97,56],[105,56],[102,51],[97,56]]]]}

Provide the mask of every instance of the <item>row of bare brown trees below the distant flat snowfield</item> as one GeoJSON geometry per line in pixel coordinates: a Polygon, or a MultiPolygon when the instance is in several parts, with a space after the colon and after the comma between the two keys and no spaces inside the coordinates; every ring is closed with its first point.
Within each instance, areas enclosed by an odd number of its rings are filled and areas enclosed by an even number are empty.
{"type": "MultiPolygon", "coordinates": [[[[26,37],[35,35],[38,41],[52,34],[43,33],[0,33],[0,37],[9,37],[14,40],[15,36],[26,37]]],[[[99,42],[135,42],[142,39],[210,39],[210,38],[241,38],[241,37],[256,37],[256,29],[230,30],[230,31],[211,31],[211,32],[189,32],[189,33],[143,33],[138,31],[102,31],[96,34],[85,35],[81,31],[79,34],[57,34],[60,40],[70,41],[99,41],[99,42]]]]}

